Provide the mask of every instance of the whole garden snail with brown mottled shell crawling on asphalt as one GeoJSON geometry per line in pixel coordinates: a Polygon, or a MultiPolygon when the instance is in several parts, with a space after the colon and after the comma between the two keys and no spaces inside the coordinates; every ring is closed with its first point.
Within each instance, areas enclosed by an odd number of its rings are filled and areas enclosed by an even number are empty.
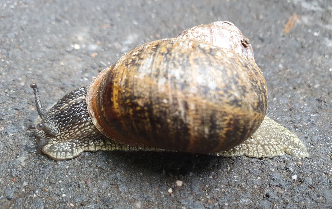
{"type": "Polygon", "coordinates": [[[266,116],[265,78],[249,39],[230,22],[138,46],[48,109],[30,86],[39,114],[30,128],[54,160],[98,150],[309,156],[266,116]]]}

